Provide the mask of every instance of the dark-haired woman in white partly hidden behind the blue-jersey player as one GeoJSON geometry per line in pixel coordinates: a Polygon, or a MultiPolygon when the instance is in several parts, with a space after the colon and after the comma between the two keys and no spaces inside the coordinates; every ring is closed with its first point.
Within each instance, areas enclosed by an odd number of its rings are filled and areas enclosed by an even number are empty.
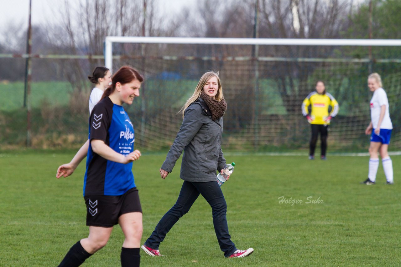
{"type": "Polygon", "coordinates": [[[95,84],[91,96],[89,96],[90,114],[95,104],[99,102],[104,90],[109,86],[111,82],[111,72],[106,67],[96,67],[92,72],[92,76],[88,76],[88,79],[95,84]]]}

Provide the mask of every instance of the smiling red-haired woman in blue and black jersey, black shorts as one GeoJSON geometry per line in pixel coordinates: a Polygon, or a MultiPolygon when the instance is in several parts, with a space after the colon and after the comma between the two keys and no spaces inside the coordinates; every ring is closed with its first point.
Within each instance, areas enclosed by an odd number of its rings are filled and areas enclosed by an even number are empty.
{"type": "MultiPolygon", "coordinates": [[[[139,96],[143,80],[134,68],[120,68],[92,110],[83,185],[89,236],[73,245],[59,266],[81,265],[106,245],[116,224],[120,225],[125,236],[121,265],[140,264],[142,209],[132,162],[138,160],[141,153],[134,150],[134,128],[122,104],[132,104],[139,96]]],[[[69,173],[58,175],[66,177],[72,173],[71,169],[69,173]]]]}

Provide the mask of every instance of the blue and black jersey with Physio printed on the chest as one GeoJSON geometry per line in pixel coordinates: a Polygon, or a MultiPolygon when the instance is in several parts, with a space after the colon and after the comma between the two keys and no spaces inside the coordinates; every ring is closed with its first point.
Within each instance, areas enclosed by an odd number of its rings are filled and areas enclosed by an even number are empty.
{"type": "MultiPolygon", "coordinates": [[[[134,151],[134,127],[122,106],[103,98],[89,118],[89,140],[105,142],[117,153],[128,155],[134,151]]],[[[119,196],[135,187],[132,163],[108,161],[89,149],[83,183],[83,195],[119,196]]]]}

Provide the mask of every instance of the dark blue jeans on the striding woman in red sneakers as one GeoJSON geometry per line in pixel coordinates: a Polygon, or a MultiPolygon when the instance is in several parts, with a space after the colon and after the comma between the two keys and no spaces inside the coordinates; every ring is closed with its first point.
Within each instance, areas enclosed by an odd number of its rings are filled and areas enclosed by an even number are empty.
{"type": "Polygon", "coordinates": [[[220,249],[224,252],[225,257],[233,254],[237,249],[228,233],[226,219],[227,204],[223,192],[216,181],[202,183],[184,181],[177,202],[164,214],[162,219],[160,219],[152,235],[146,240],[145,246],[152,249],[159,249],[159,245],[164,240],[164,237],[166,237],[168,231],[170,231],[173,225],[189,211],[199,194],[201,194],[212,207],[213,225],[220,249]]]}

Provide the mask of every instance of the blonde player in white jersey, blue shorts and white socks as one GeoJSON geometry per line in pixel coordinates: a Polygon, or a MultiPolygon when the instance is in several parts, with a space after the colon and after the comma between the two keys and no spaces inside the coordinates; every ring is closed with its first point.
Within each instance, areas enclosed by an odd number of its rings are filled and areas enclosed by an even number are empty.
{"type": "Polygon", "coordinates": [[[386,184],[392,185],[394,183],[393,163],[387,152],[393,124],[390,119],[389,100],[382,86],[379,74],[375,72],[369,75],[368,87],[373,92],[373,96],[370,102],[371,122],[365,130],[366,135],[371,135],[369,173],[368,179],[363,182],[365,185],[374,185],[376,183],[376,174],[379,168],[378,152],[383,163],[383,170],[387,180],[386,184]]]}

